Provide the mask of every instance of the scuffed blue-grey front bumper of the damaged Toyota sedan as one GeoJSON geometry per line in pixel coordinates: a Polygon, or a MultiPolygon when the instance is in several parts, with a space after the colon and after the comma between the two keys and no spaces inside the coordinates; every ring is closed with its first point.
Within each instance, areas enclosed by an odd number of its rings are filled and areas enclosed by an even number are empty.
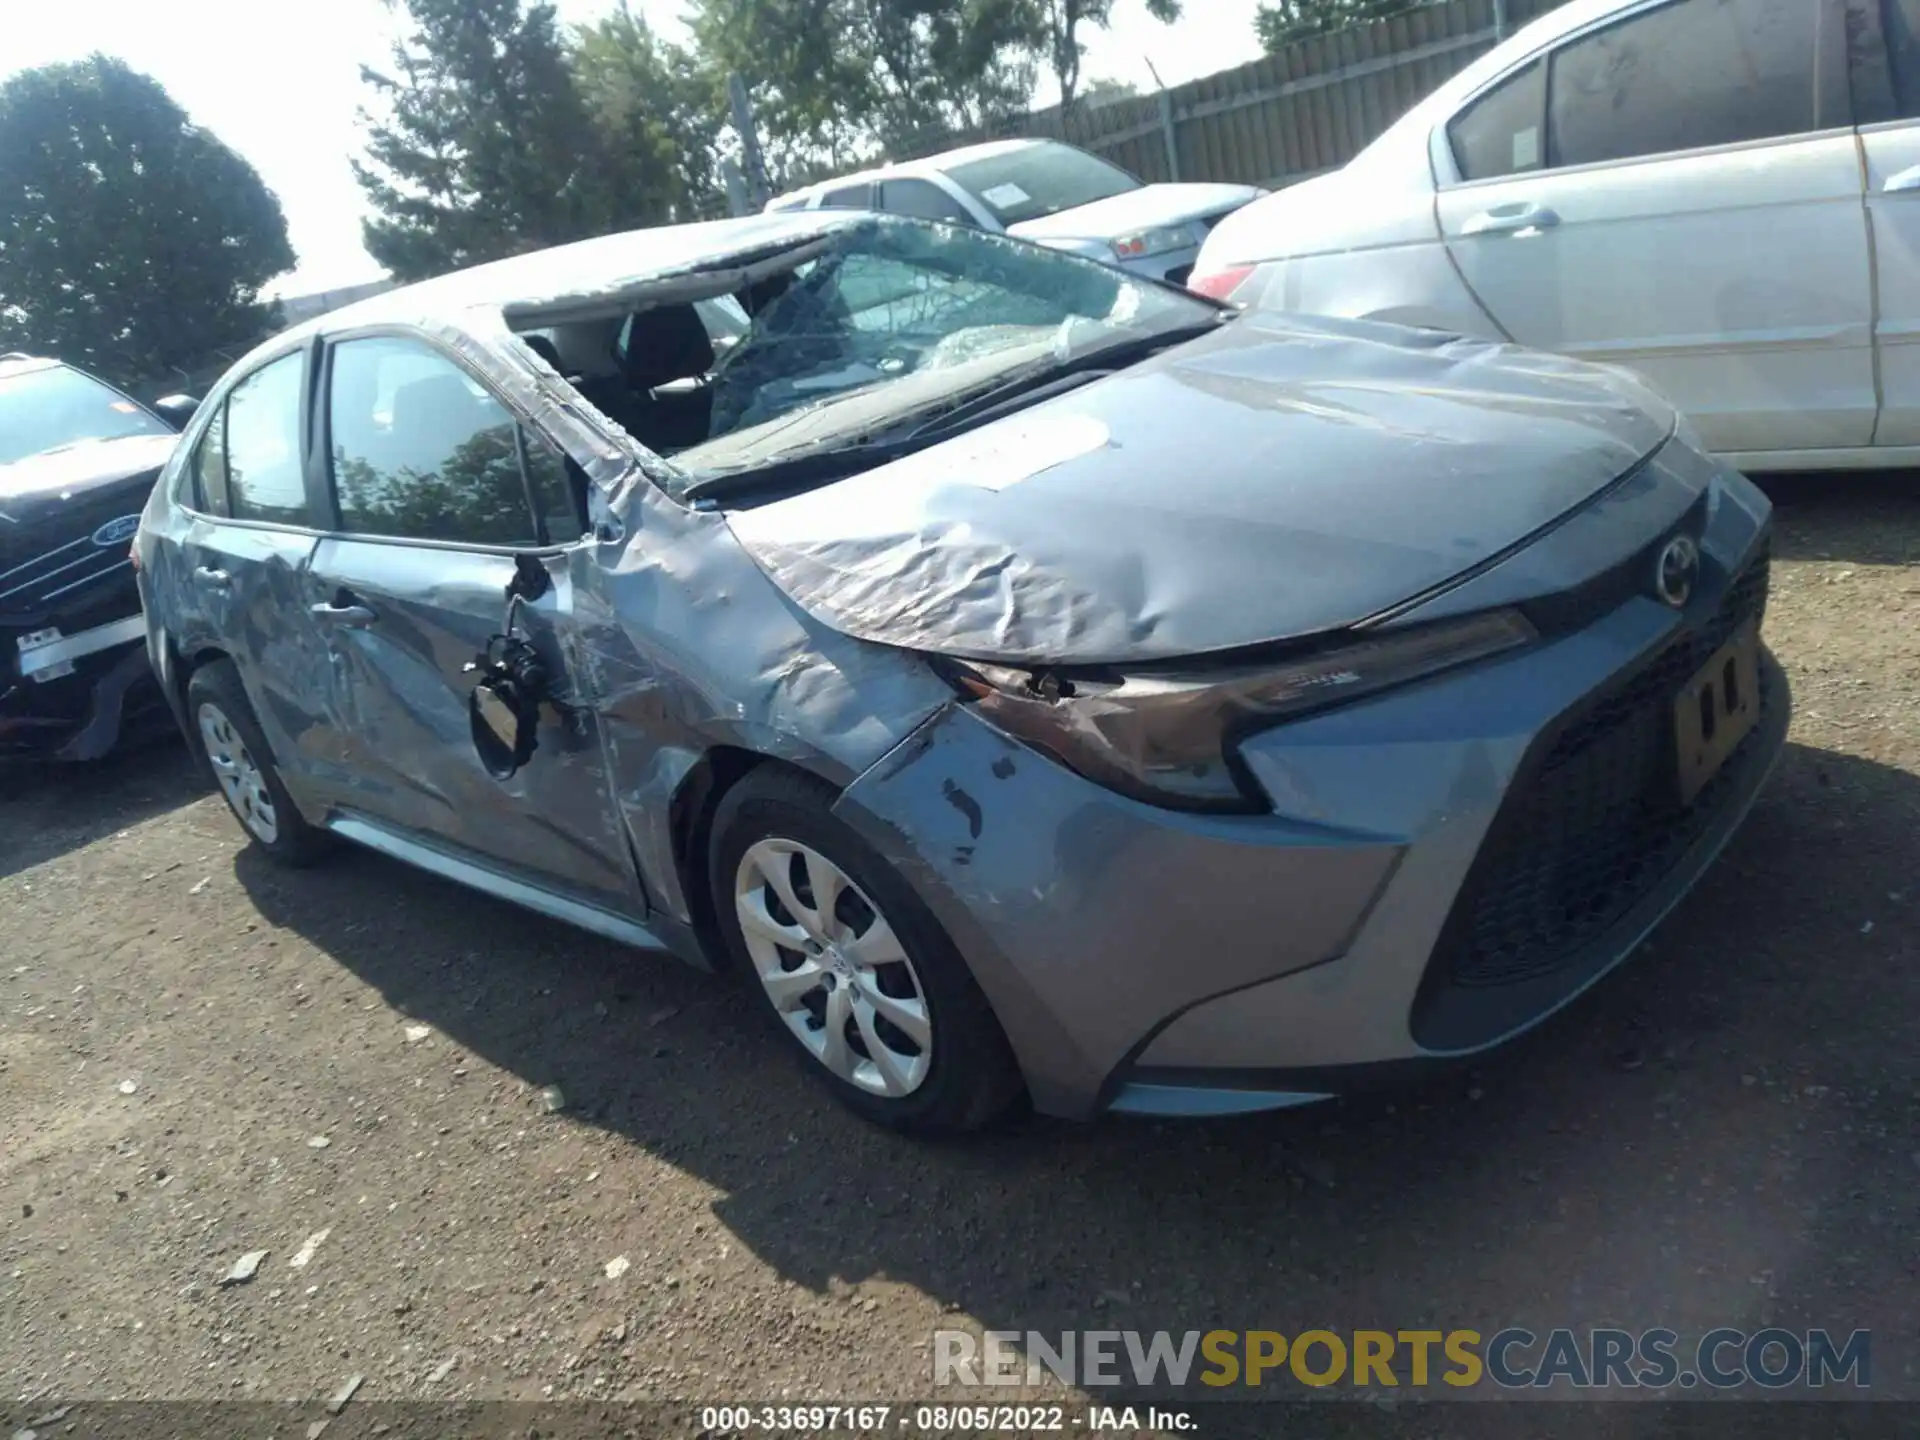
{"type": "Polygon", "coordinates": [[[1137,804],[962,707],[856,780],[839,812],[947,925],[1039,1110],[1263,1110],[1471,1054],[1632,952],[1784,745],[1789,697],[1766,657],[1755,730],[1693,806],[1657,810],[1670,751],[1649,749],[1647,726],[1670,724],[1692,657],[1764,607],[1764,503],[1720,505],[1715,524],[1718,578],[1686,612],[1632,595],[1513,657],[1244,741],[1271,814],[1137,804]],[[1565,864],[1526,881],[1561,887],[1542,912],[1565,924],[1530,933],[1524,964],[1476,956],[1476,906],[1517,883],[1515,845],[1538,849],[1515,816],[1536,820],[1542,785],[1565,780],[1544,766],[1576,728],[1599,756],[1580,783],[1620,795],[1567,799],[1565,864]],[[1640,828],[1596,820],[1622,814],[1640,828]]]}

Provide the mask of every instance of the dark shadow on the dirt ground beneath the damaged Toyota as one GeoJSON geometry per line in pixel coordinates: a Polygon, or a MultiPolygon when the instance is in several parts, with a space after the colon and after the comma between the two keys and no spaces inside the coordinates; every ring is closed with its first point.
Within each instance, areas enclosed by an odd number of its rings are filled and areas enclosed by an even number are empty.
{"type": "Polygon", "coordinates": [[[893,1279],[1020,1331],[1684,1329],[1841,1323],[1836,1284],[1905,1283],[1916,828],[1912,776],[1793,745],[1651,943],[1471,1069],[945,1144],[837,1110],[724,979],[374,854],[236,870],[396,1008],[716,1187],[733,1236],[816,1290],[893,1279]],[[1492,1313],[1517,1288],[1538,1313],[1492,1313]]]}

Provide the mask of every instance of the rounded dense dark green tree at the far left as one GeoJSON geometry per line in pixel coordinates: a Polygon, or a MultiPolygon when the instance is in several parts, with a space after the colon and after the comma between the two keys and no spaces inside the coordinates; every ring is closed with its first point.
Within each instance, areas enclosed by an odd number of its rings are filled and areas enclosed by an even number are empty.
{"type": "Polygon", "coordinates": [[[271,323],[280,202],[150,77],[108,56],[0,84],[0,349],[123,382],[271,323]]]}

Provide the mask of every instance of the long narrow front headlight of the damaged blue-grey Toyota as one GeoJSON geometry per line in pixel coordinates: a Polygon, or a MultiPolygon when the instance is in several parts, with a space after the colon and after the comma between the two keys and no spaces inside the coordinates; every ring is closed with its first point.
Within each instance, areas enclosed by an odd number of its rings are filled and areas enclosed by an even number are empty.
{"type": "Polygon", "coordinates": [[[937,668],[996,730],[1108,789],[1179,810],[1252,810],[1229,760],[1236,737],[1530,639],[1519,611],[1492,611],[1225,674],[1068,680],[945,659],[937,668]]]}

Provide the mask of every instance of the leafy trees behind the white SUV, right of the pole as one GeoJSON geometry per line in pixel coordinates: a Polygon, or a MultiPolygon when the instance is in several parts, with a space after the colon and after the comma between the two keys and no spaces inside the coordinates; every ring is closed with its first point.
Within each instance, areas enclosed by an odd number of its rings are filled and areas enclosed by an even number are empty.
{"type": "Polygon", "coordinates": [[[1029,0],[695,0],[695,44],[755,102],[776,184],[1023,109],[1029,0]]]}

